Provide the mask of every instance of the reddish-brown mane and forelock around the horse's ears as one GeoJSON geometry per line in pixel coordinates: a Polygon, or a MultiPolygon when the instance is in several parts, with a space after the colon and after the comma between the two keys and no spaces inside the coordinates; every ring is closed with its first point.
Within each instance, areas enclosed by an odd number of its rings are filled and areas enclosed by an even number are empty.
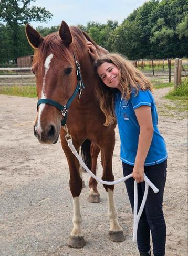
{"type": "Polygon", "coordinates": [[[39,47],[35,50],[33,64],[42,65],[48,52],[51,52],[58,58],[64,59],[73,65],[73,52],[76,54],[76,56],[83,54],[83,50],[86,49],[86,41],[91,41],[98,49],[98,45],[90,38],[86,32],[83,32],[81,29],[79,29],[79,27],[71,26],[70,31],[73,41],[72,44],[68,47],[62,43],[59,32],[54,32],[50,35],[47,35],[44,38],[43,43],[41,43],[41,45],[39,45],[39,47]]]}

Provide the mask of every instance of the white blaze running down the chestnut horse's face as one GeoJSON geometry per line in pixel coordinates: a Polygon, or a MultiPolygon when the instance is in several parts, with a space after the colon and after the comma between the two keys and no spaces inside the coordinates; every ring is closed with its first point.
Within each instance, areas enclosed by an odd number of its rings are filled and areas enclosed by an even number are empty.
{"type": "MultiPolygon", "coordinates": [[[[53,58],[53,56],[54,56],[54,54],[51,53],[49,56],[47,56],[47,58],[45,60],[45,64],[44,64],[45,75],[44,75],[44,78],[43,78],[43,87],[42,87],[42,91],[41,91],[41,99],[46,99],[46,94],[45,94],[46,74],[49,70],[50,62],[51,62],[51,59],[53,58]]],[[[44,107],[45,107],[45,104],[40,104],[38,106],[39,110],[38,110],[38,121],[37,121],[36,131],[38,132],[39,135],[43,131],[42,128],[41,128],[40,117],[41,117],[41,113],[43,112],[44,107]]]]}

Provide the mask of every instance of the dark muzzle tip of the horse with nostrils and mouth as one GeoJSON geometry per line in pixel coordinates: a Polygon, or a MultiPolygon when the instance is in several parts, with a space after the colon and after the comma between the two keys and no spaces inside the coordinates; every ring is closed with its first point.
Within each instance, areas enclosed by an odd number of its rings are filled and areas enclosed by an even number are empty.
{"type": "Polygon", "coordinates": [[[40,143],[55,144],[58,141],[59,133],[55,125],[49,125],[45,130],[41,130],[38,126],[34,125],[34,135],[40,143]]]}

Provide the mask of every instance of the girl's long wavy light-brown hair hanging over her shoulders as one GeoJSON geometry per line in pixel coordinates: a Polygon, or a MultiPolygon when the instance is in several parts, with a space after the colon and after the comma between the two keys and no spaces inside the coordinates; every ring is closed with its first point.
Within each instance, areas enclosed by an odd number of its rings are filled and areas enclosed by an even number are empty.
{"type": "MultiPolygon", "coordinates": [[[[130,99],[133,88],[136,91],[136,95],[139,89],[153,92],[153,86],[150,80],[120,54],[116,53],[101,56],[96,62],[96,68],[99,68],[100,65],[105,62],[112,63],[118,68],[120,86],[123,91],[122,95],[126,100],[130,99]]],[[[116,120],[114,116],[114,94],[116,94],[117,91],[118,89],[116,88],[106,86],[102,80],[100,86],[96,88],[100,108],[106,117],[105,126],[113,124],[116,120]]]]}

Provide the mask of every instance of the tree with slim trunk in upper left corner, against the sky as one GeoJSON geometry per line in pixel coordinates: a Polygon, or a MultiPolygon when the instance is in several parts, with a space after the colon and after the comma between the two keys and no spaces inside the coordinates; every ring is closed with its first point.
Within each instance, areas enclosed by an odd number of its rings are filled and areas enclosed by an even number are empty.
{"type": "Polygon", "coordinates": [[[0,21],[5,22],[12,34],[13,58],[16,61],[20,55],[20,25],[25,25],[31,21],[47,22],[53,14],[41,7],[28,7],[30,2],[35,0],[1,0],[0,1],[0,21]]]}

